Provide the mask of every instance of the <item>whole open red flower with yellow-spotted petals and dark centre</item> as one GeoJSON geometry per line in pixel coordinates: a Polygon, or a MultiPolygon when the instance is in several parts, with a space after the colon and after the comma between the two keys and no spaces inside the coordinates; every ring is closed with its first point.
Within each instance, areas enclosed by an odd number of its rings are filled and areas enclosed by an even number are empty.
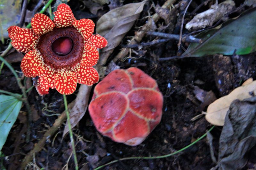
{"type": "Polygon", "coordinates": [[[92,66],[99,59],[97,48],[108,42],[99,34],[92,35],[93,21],[76,20],[67,4],[60,4],[53,14],[53,21],[36,14],[31,29],[10,26],[8,32],[12,46],[26,53],[20,67],[26,77],[36,77],[37,92],[45,95],[52,88],[69,95],[77,83],[90,86],[99,81],[92,66]]]}

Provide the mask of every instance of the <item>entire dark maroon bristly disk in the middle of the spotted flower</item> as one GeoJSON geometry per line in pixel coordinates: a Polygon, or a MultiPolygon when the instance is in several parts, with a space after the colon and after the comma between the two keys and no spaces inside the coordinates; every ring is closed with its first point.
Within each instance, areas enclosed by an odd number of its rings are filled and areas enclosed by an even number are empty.
{"type": "Polygon", "coordinates": [[[74,27],[56,28],[41,35],[36,48],[52,69],[73,69],[82,60],[84,39],[74,27]]]}

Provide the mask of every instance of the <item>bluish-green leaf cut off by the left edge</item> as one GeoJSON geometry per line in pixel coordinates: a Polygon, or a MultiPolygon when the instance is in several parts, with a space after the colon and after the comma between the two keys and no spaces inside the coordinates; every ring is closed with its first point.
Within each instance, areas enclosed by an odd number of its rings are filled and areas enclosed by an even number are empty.
{"type": "Polygon", "coordinates": [[[0,151],[16,121],[22,102],[13,96],[0,95],[0,151]]]}

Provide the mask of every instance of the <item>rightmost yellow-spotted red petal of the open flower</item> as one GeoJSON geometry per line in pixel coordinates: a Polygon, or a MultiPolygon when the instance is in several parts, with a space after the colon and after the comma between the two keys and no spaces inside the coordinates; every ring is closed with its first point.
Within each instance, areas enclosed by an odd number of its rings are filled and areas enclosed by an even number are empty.
{"type": "Polygon", "coordinates": [[[99,34],[91,35],[88,39],[85,40],[85,44],[89,44],[95,48],[104,48],[108,45],[107,39],[100,36],[99,34]]]}

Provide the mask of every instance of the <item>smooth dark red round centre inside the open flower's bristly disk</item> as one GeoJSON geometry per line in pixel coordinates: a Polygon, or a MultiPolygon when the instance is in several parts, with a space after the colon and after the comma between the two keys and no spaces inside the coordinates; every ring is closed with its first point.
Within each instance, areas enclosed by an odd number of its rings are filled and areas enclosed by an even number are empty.
{"type": "Polygon", "coordinates": [[[72,51],[73,41],[69,37],[60,37],[53,41],[52,51],[60,56],[67,55],[72,51]]]}

